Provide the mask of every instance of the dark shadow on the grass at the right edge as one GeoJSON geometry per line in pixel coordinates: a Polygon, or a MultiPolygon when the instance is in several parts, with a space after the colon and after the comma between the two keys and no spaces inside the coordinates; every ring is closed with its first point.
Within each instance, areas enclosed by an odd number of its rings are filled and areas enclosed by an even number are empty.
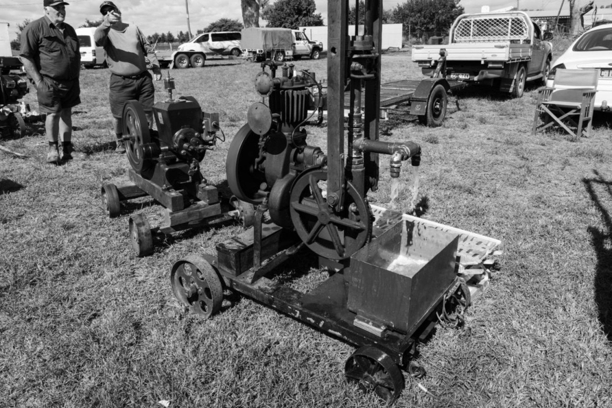
{"type": "Polygon", "coordinates": [[[603,228],[589,226],[591,242],[597,254],[595,266],[595,303],[599,310],[599,321],[603,326],[609,341],[612,341],[612,218],[610,210],[603,204],[612,198],[612,181],[604,180],[599,172],[594,171],[595,177],[583,179],[584,187],[591,196],[592,201],[602,214],[603,228]],[[604,187],[606,198],[600,198],[595,191],[595,185],[604,187]]]}

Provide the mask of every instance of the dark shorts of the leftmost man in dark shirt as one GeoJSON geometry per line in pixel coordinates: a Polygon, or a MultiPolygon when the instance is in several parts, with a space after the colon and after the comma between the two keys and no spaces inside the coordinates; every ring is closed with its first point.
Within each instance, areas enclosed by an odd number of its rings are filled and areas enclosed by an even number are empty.
{"type": "Polygon", "coordinates": [[[58,81],[43,76],[36,87],[39,109],[42,113],[59,113],[62,109],[72,108],[81,103],[80,94],[78,79],[58,81]]]}

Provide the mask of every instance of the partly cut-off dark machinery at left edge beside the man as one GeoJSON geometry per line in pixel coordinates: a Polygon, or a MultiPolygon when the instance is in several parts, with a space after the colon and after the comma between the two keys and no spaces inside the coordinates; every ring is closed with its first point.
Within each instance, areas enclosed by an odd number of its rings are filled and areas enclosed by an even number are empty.
{"type": "Polygon", "coordinates": [[[20,99],[28,92],[28,83],[19,75],[0,75],[0,137],[24,135],[26,106],[20,99]]]}

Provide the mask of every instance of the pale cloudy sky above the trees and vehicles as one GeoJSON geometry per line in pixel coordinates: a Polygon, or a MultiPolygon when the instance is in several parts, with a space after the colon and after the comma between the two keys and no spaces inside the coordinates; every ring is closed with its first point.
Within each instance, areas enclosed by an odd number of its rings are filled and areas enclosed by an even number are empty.
{"type": "MultiPolygon", "coordinates": [[[[74,28],[89,20],[97,20],[100,0],[69,0],[66,6],[66,22],[74,28]]],[[[272,1],[273,2],[273,1],[272,1]]],[[[327,0],[315,0],[316,12],[323,15],[327,22],[327,0]]],[[[404,1],[383,0],[385,9],[393,9],[404,1]]],[[[559,9],[561,0],[518,0],[519,7],[529,9],[559,9]]],[[[600,4],[609,4],[610,0],[600,0],[600,4]]],[[[146,35],[154,32],[187,32],[187,17],[184,0],[116,0],[114,2],[124,16],[124,21],[133,21],[146,35]]],[[[568,2],[565,2],[567,4],[568,2]]],[[[26,18],[42,17],[42,0],[0,0],[0,21],[10,23],[9,31],[12,39],[15,38],[17,24],[26,18]]],[[[466,12],[480,12],[483,5],[490,6],[491,10],[502,7],[517,6],[517,0],[461,0],[466,12]]],[[[597,4],[597,2],[596,2],[597,4]]],[[[192,34],[198,29],[206,27],[220,18],[234,18],[242,21],[240,0],[188,0],[190,25],[192,34]]],[[[567,6],[564,6],[567,7],[567,6]]]]}

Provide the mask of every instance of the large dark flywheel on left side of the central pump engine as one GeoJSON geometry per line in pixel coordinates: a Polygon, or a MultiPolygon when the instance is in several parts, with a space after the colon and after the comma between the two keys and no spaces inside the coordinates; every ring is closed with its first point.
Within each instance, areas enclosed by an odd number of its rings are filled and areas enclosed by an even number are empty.
{"type": "Polygon", "coordinates": [[[263,202],[263,196],[257,193],[260,185],[266,182],[266,174],[256,168],[258,158],[259,135],[245,124],[231,142],[225,174],[232,194],[254,205],[263,202]]]}

